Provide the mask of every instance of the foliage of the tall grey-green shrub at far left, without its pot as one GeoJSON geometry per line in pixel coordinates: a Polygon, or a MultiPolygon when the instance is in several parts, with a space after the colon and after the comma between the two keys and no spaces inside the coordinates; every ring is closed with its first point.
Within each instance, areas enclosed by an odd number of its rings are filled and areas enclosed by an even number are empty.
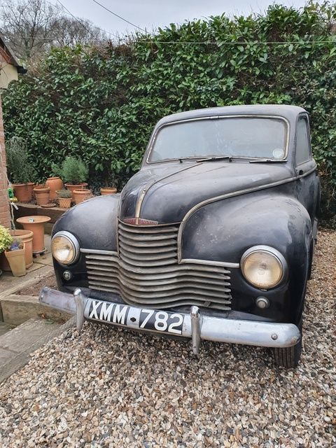
{"type": "Polygon", "coordinates": [[[12,183],[27,183],[35,179],[24,139],[14,136],[6,141],[6,159],[8,177],[12,183]]]}

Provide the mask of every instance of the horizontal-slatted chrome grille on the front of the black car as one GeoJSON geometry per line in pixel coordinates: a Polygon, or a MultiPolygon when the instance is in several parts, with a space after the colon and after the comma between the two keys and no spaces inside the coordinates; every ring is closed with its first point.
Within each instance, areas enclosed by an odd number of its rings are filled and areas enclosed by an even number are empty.
{"type": "Polygon", "coordinates": [[[128,304],[155,308],[196,304],[231,309],[230,271],[178,263],[178,225],[118,229],[118,253],[85,253],[90,288],[117,293],[128,304]]]}

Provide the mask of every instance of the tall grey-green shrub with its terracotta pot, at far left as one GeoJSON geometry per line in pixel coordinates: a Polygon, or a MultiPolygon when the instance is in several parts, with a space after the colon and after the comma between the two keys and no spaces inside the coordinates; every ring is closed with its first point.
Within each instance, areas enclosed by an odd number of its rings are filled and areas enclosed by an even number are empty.
{"type": "Polygon", "coordinates": [[[25,140],[12,137],[6,143],[7,170],[19,202],[29,202],[33,196],[34,168],[28,160],[25,140]]]}

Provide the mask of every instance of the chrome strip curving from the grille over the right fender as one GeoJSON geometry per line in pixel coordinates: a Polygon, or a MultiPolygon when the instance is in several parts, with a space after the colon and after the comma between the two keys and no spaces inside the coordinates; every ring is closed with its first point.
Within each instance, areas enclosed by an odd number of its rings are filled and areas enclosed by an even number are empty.
{"type": "Polygon", "coordinates": [[[177,258],[179,260],[179,262],[181,262],[182,260],[182,233],[184,228],[186,227],[186,223],[188,221],[188,219],[190,218],[190,216],[197,211],[198,209],[200,209],[201,207],[203,207],[204,205],[207,204],[212,204],[212,202],[217,202],[217,201],[221,201],[223,199],[228,199],[229,197],[235,197],[235,196],[240,196],[240,195],[244,195],[245,193],[253,193],[255,191],[260,191],[260,190],[266,190],[267,188],[273,188],[279,185],[283,185],[285,183],[290,183],[293,181],[297,181],[297,179],[301,179],[302,177],[305,176],[309,176],[309,174],[311,174],[312,172],[316,171],[316,164],[314,168],[309,169],[309,171],[307,171],[304,174],[300,174],[299,176],[293,176],[290,177],[288,179],[283,179],[282,181],[276,181],[276,182],[272,182],[272,183],[267,183],[266,185],[261,185],[258,187],[251,187],[251,188],[245,188],[244,190],[238,190],[238,191],[234,191],[232,193],[225,193],[225,195],[220,195],[220,196],[215,196],[215,197],[210,197],[207,200],[204,200],[202,202],[199,202],[198,204],[194,205],[194,207],[192,207],[184,216],[183,220],[181,221],[181,225],[179,228],[179,233],[177,235],[177,258]]]}

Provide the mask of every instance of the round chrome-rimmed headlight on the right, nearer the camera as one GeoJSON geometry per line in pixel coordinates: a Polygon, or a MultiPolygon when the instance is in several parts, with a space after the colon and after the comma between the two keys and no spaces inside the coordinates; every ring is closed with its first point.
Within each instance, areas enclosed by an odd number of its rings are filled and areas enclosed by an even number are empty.
{"type": "Polygon", "coordinates": [[[254,246],[241,257],[241,272],[251,285],[260,289],[274,288],[285,274],[286,260],[268,246],[254,246]]]}

